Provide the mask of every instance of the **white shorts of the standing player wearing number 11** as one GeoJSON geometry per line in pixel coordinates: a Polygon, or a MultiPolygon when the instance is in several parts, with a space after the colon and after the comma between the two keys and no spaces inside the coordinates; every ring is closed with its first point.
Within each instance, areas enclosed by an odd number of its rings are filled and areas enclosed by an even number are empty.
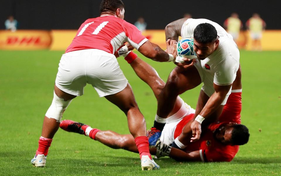
{"type": "Polygon", "coordinates": [[[71,95],[81,96],[86,84],[100,97],[122,91],[128,84],[113,54],[99,49],[71,51],[62,55],[56,86],[71,95]]]}

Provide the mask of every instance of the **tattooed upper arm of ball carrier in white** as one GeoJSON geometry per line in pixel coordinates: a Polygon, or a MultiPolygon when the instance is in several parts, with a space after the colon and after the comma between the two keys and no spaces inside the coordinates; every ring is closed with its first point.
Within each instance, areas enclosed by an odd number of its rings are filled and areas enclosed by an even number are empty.
{"type": "Polygon", "coordinates": [[[178,41],[178,37],[181,35],[181,27],[183,26],[183,23],[188,18],[182,18],[176,21],[173,21],[172,23],[169,23],[165,27],[165,35],[166,35],[166,41],[168,39],[176,40],[178,41]]]}

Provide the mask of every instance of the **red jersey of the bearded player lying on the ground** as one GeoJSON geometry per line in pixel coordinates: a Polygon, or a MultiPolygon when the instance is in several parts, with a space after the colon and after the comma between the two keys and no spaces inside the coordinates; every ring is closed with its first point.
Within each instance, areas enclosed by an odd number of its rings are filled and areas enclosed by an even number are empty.
{"type": "MultiPolygon", "coordinates": [[[[202,161],[231,161],[239,150],[239,146],[224,145],[214,139],[213,131],[223,123],[236,122],[241,123],[241,93],[231,93],[226,105],[224,106],[222,115],[215,123],[211,123],[204,134],[196,142],[189,144],[186,148],[186,152],[200,150],[200,156],[202,161]]],[[[182,132],[183,127],[190,120],[192,120],[194,114],[187,115],[181,120],[175,130],[174,138],[178,137],[182,132]]]]}

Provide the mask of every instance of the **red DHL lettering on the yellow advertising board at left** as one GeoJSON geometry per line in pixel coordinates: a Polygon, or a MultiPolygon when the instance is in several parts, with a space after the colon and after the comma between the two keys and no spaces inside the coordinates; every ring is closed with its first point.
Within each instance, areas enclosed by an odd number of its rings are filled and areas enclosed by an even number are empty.
{"type": "Polygon", "coordinates": [[[40,37],[17,37],[9,36],[6,40],[7,45],[45,45],[40,37]]]}

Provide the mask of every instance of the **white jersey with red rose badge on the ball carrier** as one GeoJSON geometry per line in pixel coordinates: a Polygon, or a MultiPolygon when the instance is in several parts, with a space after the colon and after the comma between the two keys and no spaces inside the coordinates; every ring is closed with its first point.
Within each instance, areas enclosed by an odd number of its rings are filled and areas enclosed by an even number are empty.
{"type": "Polygon", "coordinates": [[[208,96],[211,96],[214,93],[213,83],[229,85],[234,82],[239,68],[240,54],[232,36],[223,27],[211,20],[192,18],[186,20],[181,29],[181,37],[193,38],[195,27],[201,23],[213,25],[219,36],[218,48],[210,56],[204,60],[197,60],[196,63],[201,64],[204,75],[202,89],[208,96]]]}

